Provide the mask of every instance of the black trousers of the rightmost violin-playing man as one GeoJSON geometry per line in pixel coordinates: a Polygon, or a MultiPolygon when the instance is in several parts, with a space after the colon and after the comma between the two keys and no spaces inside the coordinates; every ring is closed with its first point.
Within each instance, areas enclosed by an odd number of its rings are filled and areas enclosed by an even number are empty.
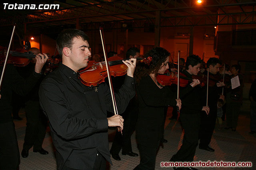
{"type": "Polygon", "coordinates": [[[212,133],[214,131],[217,118],[217,110],[212,109],[211,111],[211,109],[212,108],[210,107],[209,115],[207,115],[205,111],[201,111],[201,126],[199,132],[200,147],[207,147],[212,139],[212,133]]]}

